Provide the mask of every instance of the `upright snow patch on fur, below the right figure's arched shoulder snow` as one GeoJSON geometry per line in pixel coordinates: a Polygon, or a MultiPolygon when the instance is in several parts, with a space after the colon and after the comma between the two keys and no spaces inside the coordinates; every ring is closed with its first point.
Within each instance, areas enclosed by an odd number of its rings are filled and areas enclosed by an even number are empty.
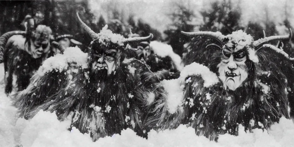
{"type": "Polygon", "coordinates": [[[167,93],[168,112],[173,114],[182,105],[183,86],[179,79],[163,80],[161,85],[167,93]]]}

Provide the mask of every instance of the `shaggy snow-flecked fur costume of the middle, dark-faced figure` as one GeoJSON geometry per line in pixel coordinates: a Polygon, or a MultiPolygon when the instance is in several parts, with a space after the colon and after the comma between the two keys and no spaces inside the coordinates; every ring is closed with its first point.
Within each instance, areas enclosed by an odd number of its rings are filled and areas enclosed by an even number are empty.
{"type": "Polygon", "coordinates": [[[15,94],[14,105],[19,108],[19,116],[29,119],[43,109],[56,111],[62,121],[71,114],[71,127],[90,133],[93,141],[126,128],[147,137],[143,124],[144,106],[149,97],[158,95],[154,91],[155,84],[164,75],[152,73],[141,61],[123,61],[125,55],[119,56],[121,64],[110,75],[105,74],[107,70],[92,71],[92,51],[86,69],[68,62],[67,69],[35,74],[29,86],[15,94]]]}

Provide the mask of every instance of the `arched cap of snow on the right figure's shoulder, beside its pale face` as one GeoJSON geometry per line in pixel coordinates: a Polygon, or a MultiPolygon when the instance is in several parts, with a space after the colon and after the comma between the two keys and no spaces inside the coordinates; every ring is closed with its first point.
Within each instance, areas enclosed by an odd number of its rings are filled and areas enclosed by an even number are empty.
{"type": "Polygon", "coordinates": [[[204,80],[204,87],[209,87],[219,82],[218,76],[216,76],[215,73],[211,72],[208,67],[196,62],[193,62],[192,64],[189,64],[183,68],[180,74],[180,81],[188,82],[185,81],[185,79],[192,75],[201,75],[204,80]]]}

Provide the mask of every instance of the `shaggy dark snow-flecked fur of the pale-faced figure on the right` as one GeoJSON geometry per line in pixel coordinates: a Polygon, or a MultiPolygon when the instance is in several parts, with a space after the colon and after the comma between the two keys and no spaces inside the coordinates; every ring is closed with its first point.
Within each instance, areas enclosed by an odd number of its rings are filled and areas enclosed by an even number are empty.
{"type": "MultiPolygon", "coordinates": [[[[206,44],[198,42],[204,48],[192,49],[186,57],[197,55],[199,58],[189,58],[184,62],[188,65],[198,61],[219,76],[217,65],[221,62],[222,52],[213,46],[205,49],[206,44]]],[[[173,114],[168,111],[166,90],[159,85],[163,95],[151,104],[146,124],[157,130],[187,124],[195,128],[197,135],[217,141],[219,134],[238,135],[239,124],[245,127],[245,131],[251,131],[254,128],[267,129],[282,116],[289,118],[288,98],[293,97],[291,89],[294,88],[291,62],[267,48],[260,49],[257,56],[258,63],[246,60],[248,78],[235,91],[225,90],[221,80],[205,87],[202,76],[187,76],[186,80],[190,79],[184,83],[181,107],[173,114]]]]}

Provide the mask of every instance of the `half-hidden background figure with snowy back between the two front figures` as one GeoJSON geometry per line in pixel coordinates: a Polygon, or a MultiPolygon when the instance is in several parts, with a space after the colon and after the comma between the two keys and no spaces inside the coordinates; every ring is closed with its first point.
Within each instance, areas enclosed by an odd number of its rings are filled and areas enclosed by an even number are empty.
{"type": "MultiPolygon", "coordinates": [[[[133,34],[130,30],[129,38],[138,37],[138,34],[133,34]]],[[[132,45],[131,45],[132,46],[132,45]]],[[[138,60],[144,60],[152,72],[167,70],[177,72],[182,69],[181,57],[173,52],[170,45],[159,41],[144,41],[138,46],[135,51],[130,52],[138,60]]],[[[130,56],[132,57],[132,56],[130,56]]]]}

